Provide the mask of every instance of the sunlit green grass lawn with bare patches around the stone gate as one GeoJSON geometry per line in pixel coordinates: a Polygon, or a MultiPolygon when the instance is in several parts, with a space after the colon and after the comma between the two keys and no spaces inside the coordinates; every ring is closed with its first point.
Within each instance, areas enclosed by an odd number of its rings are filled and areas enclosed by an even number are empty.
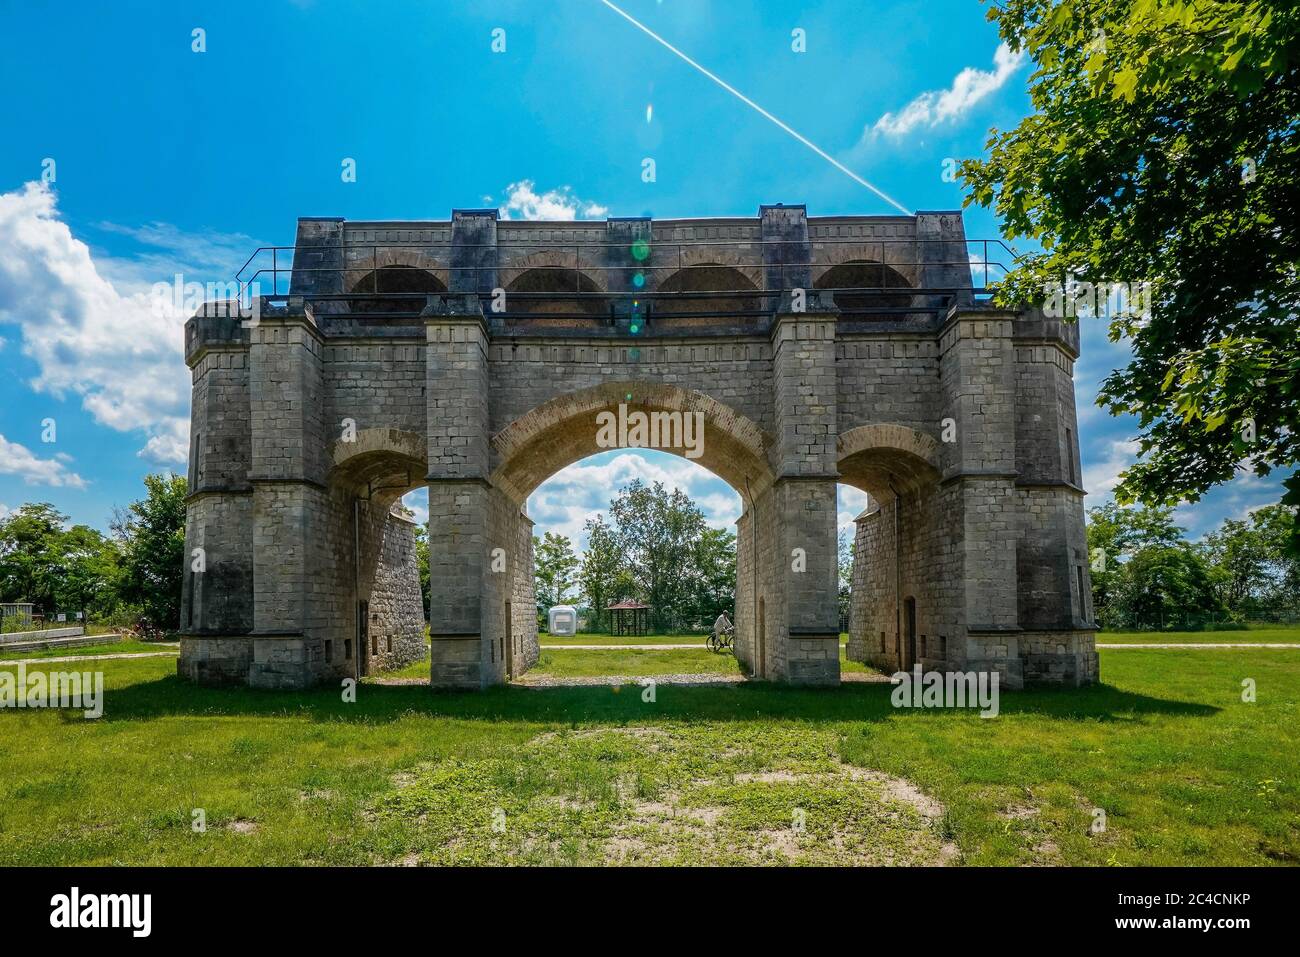
{"type": "Polygon", "coordinates": [[[344,703],[96,668],[98,722],[0,710],[0,865],[1300,861],[1290,650],[1102,651],[1105,684],[1006,693],[992,719],[896,710],[888,684],[344,703]]]}

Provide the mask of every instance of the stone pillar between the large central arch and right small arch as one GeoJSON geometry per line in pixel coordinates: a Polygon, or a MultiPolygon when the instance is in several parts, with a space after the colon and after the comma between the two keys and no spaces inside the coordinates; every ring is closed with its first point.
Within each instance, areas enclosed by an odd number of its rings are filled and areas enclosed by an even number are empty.
{"type": "Polygon", "coordinates": [[[796,684],[840,680],[835,322],[831,311],[785,307],[772,324],[776,481],[767,563],[774,588],[763,624],[775,638],[768,676],[796,684]]]}

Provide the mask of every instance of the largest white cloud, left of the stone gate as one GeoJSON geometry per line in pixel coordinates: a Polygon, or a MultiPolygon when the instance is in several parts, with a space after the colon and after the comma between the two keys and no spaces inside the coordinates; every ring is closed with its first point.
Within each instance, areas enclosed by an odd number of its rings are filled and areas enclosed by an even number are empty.
{"type": "MultiPolygon", "coordinates": [[[[140,233],[151,242],[165,235],[157,225],[140,233]]],[[[166,267],[157,278],[174,270],[166,267]]],[[[183,320],[156,308],[143,285],[124,293],[105,278],[60,221],[47,186],[0,194],[0,322],[22,330],[22,352],[35,363],[31,387],[60,399],[79,395],[101,425],[142,430],[140,455],[153,462],[183,462],[188,446],[183,320]]]]}

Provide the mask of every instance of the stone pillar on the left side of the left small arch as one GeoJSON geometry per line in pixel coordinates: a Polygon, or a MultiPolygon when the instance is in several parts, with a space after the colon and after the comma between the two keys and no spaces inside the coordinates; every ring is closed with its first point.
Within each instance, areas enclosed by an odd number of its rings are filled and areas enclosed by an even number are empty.
{"type": "MultiPolygon", "coordinates": [[[[313,596],[333,557],[325,519],[321,339],[291,299],[251,328],[250,417],[254,489],[254,655],[248,684],[306,688],[324,667],[313,596]]],[[[355,642],[354,642],[355,644],[355,642]]],[[[352,654],[359,649],[354,646],[352,654]]]]}

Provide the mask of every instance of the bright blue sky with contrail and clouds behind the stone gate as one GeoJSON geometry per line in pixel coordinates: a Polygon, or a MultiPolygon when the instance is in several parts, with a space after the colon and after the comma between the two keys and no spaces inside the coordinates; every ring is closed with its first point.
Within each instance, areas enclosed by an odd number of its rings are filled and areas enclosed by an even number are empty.
{"type": "MultiPolygon", "coordinates": [[[[959,207],[944,161],[1028,109],[1028,68],[975,0],[618,5],[909,209],[959,207]]],[[[892,212],[602,0],[9,4],[0,78],[21,92],[0,150],[0,515],[48,501],[103,528],[146,472],[183,471],[183,316],[157,315],[150,289],[226,281],[256,246],[291,243],[298,216],[892,212]]],[[[998,234],[978,209],[966,230],[998,234]]],[[[1091,505],[1134,429],[1091,406],[1123,346],[1096,320],[1083,339],[1091,505]]],[[[720,480],[640,451],[566,469],[530,511],[572,534],[636,475],[686,489],[715,524],[738,515],[720,480]]],[[[1240,478],[1179,518],[1199,534],[1278,488],[1240,478]]],[[[852,519],[861,495],[841,506],[852,519]]]]}

